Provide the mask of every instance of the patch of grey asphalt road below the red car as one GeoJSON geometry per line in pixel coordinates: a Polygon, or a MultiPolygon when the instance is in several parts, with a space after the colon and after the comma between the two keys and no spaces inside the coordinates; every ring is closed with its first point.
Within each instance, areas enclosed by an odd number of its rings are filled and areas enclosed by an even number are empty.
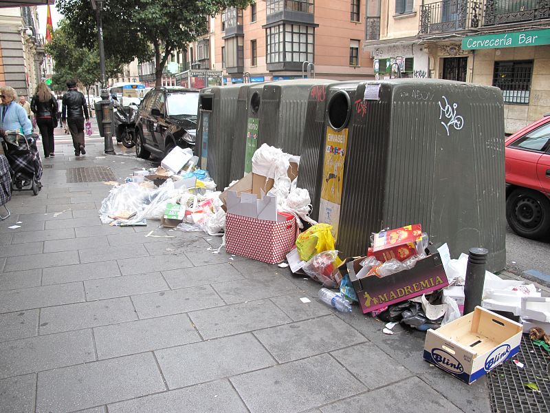
{"type": "Polygon", "coordinates": [[[550,240],[546,242],[528,240],[516,235],[509,226],[506,226],[506,269],[516,275],[550,286],[550,240]],[[529,271],[530,274],[526,274],[525,271],[529,271]],[[546,277],[542,277],[541,281],[541,275],[534,271],[546,277]]]}

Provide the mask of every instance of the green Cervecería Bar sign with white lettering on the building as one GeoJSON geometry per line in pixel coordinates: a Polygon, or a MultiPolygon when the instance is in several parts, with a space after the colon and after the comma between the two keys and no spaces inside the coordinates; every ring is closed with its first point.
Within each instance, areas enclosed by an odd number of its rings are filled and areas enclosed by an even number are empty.
{"type": "Polygon", "coordinates": [[[500,47],[538,46],[550,44],[550,29],[527,32],[487,34],[462,39],[463,50],[498,49],[500,47]]]}

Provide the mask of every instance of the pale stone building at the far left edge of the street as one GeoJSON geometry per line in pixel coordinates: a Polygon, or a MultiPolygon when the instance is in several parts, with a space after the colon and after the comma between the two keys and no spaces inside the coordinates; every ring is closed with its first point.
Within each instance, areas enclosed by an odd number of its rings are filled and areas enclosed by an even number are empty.
{"type": "Polygon", "coordinates": [[[32,96],[44,78],[43,60],[36,6],[0,8],[0,85],[32,96]]]}

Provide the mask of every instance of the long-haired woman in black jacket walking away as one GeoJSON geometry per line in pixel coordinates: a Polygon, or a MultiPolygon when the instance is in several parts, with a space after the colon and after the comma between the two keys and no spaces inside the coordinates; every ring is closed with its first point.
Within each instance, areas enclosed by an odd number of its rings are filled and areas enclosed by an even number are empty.
{"type": "Polygon", "coordinates": [[[38,125],[42,136],[45,158],[54,156],[54,128],[57,126],[57,100],[44,82],[36,87],[36,94],[32,96],[30,109],[36,116],[36,125],[38,125]]]}

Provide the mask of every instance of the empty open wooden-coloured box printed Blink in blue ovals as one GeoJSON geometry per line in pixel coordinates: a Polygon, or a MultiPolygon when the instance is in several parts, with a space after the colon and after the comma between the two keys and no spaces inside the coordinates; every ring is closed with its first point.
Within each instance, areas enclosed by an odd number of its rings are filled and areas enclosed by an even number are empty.
{"type": "Polygon", "coordinates": [[[511,359],[520,348],[521,335],[521,324],[476,307],[473,313],[428,330],[423,358],[470,384],[511,359]]]}

